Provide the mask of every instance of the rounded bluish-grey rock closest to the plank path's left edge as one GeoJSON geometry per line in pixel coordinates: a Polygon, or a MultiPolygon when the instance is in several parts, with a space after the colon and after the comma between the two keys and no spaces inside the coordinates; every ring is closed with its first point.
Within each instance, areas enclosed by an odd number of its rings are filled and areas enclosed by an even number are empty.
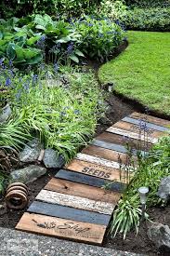
{"type": "Polygon", "coordinates": [[[61,168],[65,164],[65,159],[57,151],[48,148],[45,151],[43,162],[46,168],[61,168]]]}

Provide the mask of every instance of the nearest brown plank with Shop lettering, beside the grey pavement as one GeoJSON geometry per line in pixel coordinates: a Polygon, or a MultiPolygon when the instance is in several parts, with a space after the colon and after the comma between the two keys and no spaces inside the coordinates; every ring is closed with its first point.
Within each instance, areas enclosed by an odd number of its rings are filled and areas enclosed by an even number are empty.
{"type": "Polygon", "coordinates": [[[16,229],[38,235],[55,236],[76,241],[101,244],[106,227],[103,225],[64,220],[25,212],[16,229]]]}

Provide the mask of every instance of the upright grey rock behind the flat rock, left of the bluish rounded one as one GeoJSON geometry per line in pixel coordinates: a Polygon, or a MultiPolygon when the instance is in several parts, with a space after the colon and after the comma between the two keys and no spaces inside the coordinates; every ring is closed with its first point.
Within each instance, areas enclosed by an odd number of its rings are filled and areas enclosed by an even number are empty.
{"type": "Polygon", "coordinates": [[[42,148],[43,145],[41,141],[39,141],[38,138],[34,138],[24,147],[23,151],[20,152],[20,161],[24,163],[36,161],[42,148]]]}

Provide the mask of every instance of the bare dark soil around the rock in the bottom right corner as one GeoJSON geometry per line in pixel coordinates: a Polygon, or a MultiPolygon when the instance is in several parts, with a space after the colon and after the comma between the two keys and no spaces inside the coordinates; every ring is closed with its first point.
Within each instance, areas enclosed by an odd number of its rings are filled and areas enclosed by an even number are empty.
{"type": "MultiPolygon", "coordinates": [[[[170,226],[170,206],[166,208],[151,208],[148,210],[150,215],[150,220],[153,222],[160,222],[165,225],[170,226]]],[[[147,224],[143,222],[139,226],[139,232],[136,235],[135,231],[130,232],[128,236],[126,236],[125,240],[123,236],[115,236],[115,238],[111,239],[111,237],[105,237],[104,239],[104,247],[111,249],[120,249],[126,250],[136,253],[143,253],[145,255],[164,255],[169,256],[170,252],[163,252],[158,249],[150,242],[149,237],[147,236],[147,224]]]]}

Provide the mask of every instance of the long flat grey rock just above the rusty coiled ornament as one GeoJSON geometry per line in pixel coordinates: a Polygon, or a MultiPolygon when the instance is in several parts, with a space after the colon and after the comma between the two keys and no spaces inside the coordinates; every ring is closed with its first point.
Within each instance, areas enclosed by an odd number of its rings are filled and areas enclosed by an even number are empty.
{"type": "Polygon", "coordinates": [[[46,168],[31,165],[26,168],[13,170],[11,175],[11,182],[23,182],[25,184],[36,181],[39,177],[46,174],[46,168]]]}

